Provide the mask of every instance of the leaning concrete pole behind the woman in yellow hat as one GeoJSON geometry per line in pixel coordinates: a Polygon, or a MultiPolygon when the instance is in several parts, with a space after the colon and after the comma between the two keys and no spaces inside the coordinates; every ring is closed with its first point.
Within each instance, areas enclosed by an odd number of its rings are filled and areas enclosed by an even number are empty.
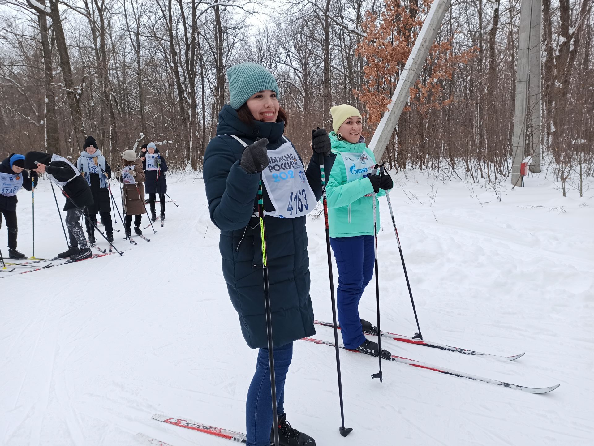
{"type": "Polygon", "coordinates": [[[405,68],[400,73],[396,91],[392,96],[388,111],[381,118],[380,124],[375,129],[375,133],[369,143],[369,148],[373,150],[375,159],[381,159],[386,145],[394,132],[394,128],[400,118],[400,113],[404,109],[407,100],[410,96],[410,87],[415,85],[419,72],[425,63],[425,59],[429,55],[429,49],[440,30],[441,22],[444,19],[445,13],[450,8],[451,0],[435,0],[429,14],[423,23],[421,32],[416,39],[415,45],[410,52],[410,56],[406,61],[405,68]]]}

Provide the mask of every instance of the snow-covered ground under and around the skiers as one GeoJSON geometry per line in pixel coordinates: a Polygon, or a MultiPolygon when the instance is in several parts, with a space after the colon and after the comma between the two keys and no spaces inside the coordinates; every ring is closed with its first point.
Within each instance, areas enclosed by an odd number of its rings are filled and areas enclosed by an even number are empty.
{"type": "MultiPolygon", "coordinates": [[[[179,207],[168,203],[165,227],[145,231],[151,242],[130,246],[115,225],[123,257],[0,280],[0,444],[128,446],[137,432],[173,446],[230,444],[154,421],[154,413],[245,432],[256,352],[226,293],[204,184],[193,179],[169,178],[179,207]]],[[[534,178],[513,191],[503,184],[498,201],[481,185],[421,172],[407,179],[397,176],[391,198],[425,339],[526,355],[505,362],[388,340],[384,348],[515,384],[561,386],[534,395],[394,362],[383,363],[381,383],[371,379],[377,360],[342,351],[346,426],[354,429],[342,438],[334,351],[296,341],[285,393],[290,423],[320,446],[593,444],[592,190],[563,198],[554,183],[534,178]]],[[[29,192],[19,201],[19,248],[31,255],[29,192]]],[[[412,336],[384,199],[381,216],[382,328],[412,336]]],[[[36,190],[35,222],[37,257],[65,249],[47,181],[36,190]]],[[[330,321],[323,217],[308,219],[308,232],[315,317],[330,321]]],[[[3,226],[4,253],[5,238],[3,226]]],[[[375,320],[373,282],[361,314],[375,320]]],[[[330,328],[317,331],[333,340],[330,328]]]]}

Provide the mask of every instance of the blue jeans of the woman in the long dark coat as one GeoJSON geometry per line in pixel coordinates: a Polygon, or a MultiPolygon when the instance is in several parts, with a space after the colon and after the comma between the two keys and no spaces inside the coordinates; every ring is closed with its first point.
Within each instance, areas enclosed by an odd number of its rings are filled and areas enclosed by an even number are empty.
{"type": "MultiPolygon", "coordinates": [[[[293,358],[293,343],[273,349],[274,376],[276,377],[276,403],[278,415],[285,409],[285,378],[293,358]]],[[[272,414],[272,393],[270,390],[270,368],[268,368],[268,349],[260,349],[256,372],[249,385],[245,408],[247,427],[247,446],[270,446],[270,432],[274,423],[272,414]]]]}

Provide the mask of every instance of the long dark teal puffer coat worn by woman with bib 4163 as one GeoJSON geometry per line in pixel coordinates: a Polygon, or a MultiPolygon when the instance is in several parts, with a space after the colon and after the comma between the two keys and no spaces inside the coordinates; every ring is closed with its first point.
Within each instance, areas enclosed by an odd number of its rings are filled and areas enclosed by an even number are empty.
{"type": "MultiPolygon", "coordinates": [[[[254,121],[253,125],[246,125],[226,105],[219,113],[217,135],[233,134],[247,144],[254,143],[256,138],[267,138],[268,150],[275,150],[285,143],[284,129],[284,122],[254,121]]],[[[260,173],[249,174],[239,166],[243,151],[244,147],[230,136],[213,138],[204,156],[204,183],[210,218],[220,229],[219,249],[229,297],[239,314],[245,340],[255,349],[267,347],[260,227],[258,219],[251,218],[260,173]]],[[[333,159],[334,155],[328,157],[325,165],[330,166],[333,159]]],[[[319,200],[317,156],[310,160],[306,176],[319,200]]],[[[264,207],[271,208],[266,188],[264,207]]],[[[307,216],[264,217],[275,347],[315,334],[305,219],[307,216]]]]}

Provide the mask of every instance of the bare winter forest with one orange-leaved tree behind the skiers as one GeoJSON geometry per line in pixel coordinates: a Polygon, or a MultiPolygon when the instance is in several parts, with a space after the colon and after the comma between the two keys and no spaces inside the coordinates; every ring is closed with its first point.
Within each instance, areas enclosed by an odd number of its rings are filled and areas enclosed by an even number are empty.
{"type": "MultiPolygon", "coordinates": [[[[431,3],[0,0],[0,154],[76,158],[93,135],[114,165],[156,141],[174,170],[200,170],[226,69],[245,61],[276,76],[301,154],[340,103],[369,140],[431,3]]],[[[562,181],[594,176],[593,3],[543,0],[543,170],[562,181]]],[[[519,0],[453,2],[384,153],[393,169],[507,178],[519,15],[519,0]]]]}

